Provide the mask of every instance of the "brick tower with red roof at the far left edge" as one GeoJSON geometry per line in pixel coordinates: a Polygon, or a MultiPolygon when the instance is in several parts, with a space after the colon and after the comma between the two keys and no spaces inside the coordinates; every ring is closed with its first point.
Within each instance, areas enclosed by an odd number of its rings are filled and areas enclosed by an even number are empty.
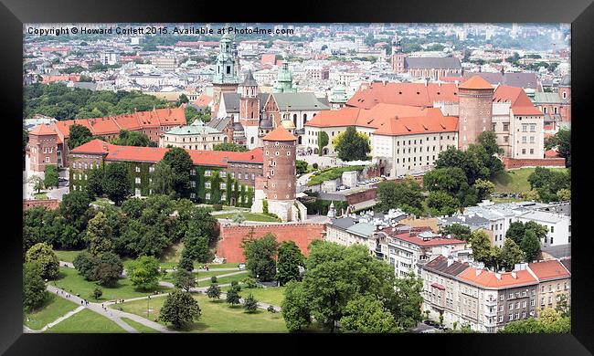
{"type": "Polygon", "coordinates": [[[29,132],[29,168],[45,172],[46,165],[58,165],[58,133],[42,123],[29,132]]]}

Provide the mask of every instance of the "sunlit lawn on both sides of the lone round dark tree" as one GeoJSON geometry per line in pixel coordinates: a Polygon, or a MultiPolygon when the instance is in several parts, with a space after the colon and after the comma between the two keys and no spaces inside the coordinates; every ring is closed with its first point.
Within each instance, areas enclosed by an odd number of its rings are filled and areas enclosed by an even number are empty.
{"type": "MultiPolygon", "coordinates": [[[[281,313],[259,309],[254,314],[245,313],[241,306],[229,306],[224,300],[210,300],[204,295],[195,295],[201,309],[200,319],[188,332],[287,332],[281,313]]],[[[164,298],[151,299],[150,319],[159,314],[164,298]]],[[[119,305],[127,311],[146,318],[146,301],[135,300],[119,305]]],[[[164,324],[163,321],[159,323],[164,324]]]]}

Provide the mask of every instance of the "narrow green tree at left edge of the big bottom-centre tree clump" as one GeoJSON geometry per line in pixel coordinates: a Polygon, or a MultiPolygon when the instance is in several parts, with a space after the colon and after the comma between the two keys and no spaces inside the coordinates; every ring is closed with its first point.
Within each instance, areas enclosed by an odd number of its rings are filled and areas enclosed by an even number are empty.
{"type": "Polygon", "coordinates": [[[302,283],[295,280],[286,285],[284,299],[281,302],[282,319],[284,319],[287,330],[291,332],[302,330],[311,324],[309,300],[303,290],[302,283]]]}

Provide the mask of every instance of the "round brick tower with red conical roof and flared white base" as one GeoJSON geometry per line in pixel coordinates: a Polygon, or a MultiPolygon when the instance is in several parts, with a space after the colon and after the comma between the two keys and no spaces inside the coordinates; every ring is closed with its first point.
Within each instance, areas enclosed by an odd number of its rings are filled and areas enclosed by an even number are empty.
{"type": "Polygon", "coordinates": [[[295,200],[295,153],[297,138],[279,126],[264,136],[263,176],[256,179],[253,213],[278,215],[282,222],[307,217],[305,206],[295,200]],[[264,203],[266,201],[266,203],[264,203]]]}

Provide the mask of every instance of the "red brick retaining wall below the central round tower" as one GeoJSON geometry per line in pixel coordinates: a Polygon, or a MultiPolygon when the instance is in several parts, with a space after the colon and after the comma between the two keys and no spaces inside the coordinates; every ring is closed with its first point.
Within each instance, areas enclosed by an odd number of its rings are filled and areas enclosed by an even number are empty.
{"type": "Polygon", "coordinates": [[[225,258],[228,263],[245,262],[241,241],[249,234],[252,227],[255,238],[272,233],[279,242],[293,241],[304,256],[308,253],[307,246],[313,240],[321,240],[325,232],[324,224],[221,225],[217,257],[225,258]]]}

